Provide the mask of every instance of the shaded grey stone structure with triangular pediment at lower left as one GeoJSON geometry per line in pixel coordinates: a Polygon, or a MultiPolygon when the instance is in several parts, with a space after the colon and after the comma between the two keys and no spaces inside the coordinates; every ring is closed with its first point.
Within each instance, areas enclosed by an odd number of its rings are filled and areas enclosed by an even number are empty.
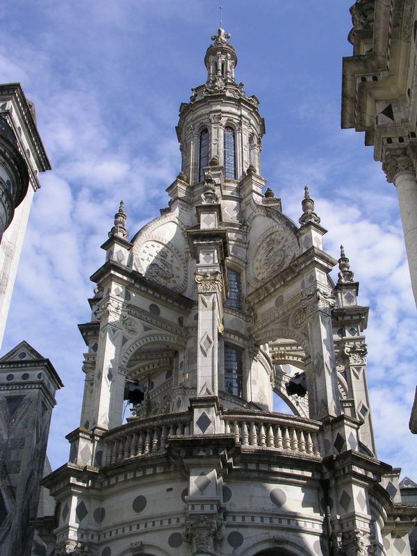
{"type": "Polygon", "coordinates": [[[21,342],[0,359],[0,554],[31,554],[56,390],[49,359],[21,342]]]}

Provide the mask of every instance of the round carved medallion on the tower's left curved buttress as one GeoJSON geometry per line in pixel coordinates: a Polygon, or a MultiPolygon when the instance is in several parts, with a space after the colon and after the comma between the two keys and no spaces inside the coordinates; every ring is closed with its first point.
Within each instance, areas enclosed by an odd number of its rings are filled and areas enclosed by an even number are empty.
{"type": "Polygon", "coordinates": [[[170,241],[147,239],[133,247],[133,257],[133,267],[149,280],[177,292],[186,288],[186,263],[170,241]]]}

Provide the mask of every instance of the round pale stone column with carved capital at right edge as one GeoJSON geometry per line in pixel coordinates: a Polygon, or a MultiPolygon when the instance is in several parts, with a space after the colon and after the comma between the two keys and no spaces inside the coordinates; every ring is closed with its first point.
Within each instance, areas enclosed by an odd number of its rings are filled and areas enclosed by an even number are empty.
{"type": "MultiPolygon", "coordinates": [[[[415,149],[408,149],[414,154],[415,149]]],[[[414,162],[404,150],[392,151],[386,155],[382,165],[387,181],[397,189],[405,250],[409,263],[411,287],[417,303],[417,181],[414,162]]],[[[416,158],[416,156],[413,156],[416,158]]]]}

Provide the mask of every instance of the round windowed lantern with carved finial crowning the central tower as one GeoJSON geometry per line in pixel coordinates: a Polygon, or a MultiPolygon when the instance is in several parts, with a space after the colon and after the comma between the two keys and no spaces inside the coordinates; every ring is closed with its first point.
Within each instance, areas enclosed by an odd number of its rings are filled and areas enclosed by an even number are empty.
{"type": "Polygon", "coordinates": [[[192,89],[190,102],[180,106],[177,136],[182,154],[181,171],[191,185],[202,183],[207,168],[220,168],[225,181],[240,181],[252,167],[261,174],[261,139],[265,133],[259,100],[247,97],[236,83],[238,57],[218,28],[204,56],[207,80],[192,89]]]}

